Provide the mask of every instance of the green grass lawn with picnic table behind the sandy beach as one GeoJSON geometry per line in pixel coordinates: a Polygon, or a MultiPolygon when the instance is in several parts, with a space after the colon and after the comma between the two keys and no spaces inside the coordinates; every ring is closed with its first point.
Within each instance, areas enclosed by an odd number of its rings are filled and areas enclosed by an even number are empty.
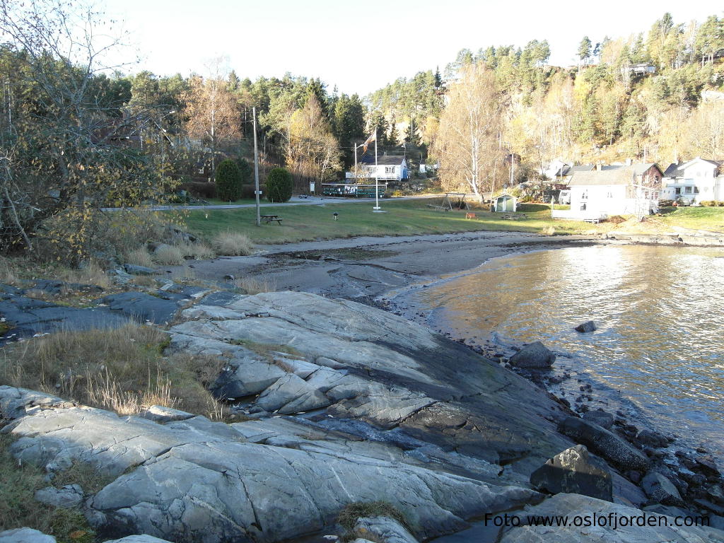
{"type": "MultiPolygon", "coordinates": [[[[256,210],[209,209],[189,211],[188,230],[213,237],[218,232],[242,232],[255,243],[287,243],[303,240],[332,239],[361,235],[416,235],[468,232],[473,230],[509,230],[575,234],[596,230],[591,224],[576,221],[554,221],[550,206],[524,205],[521,211],[528,219],[504,220],[502,214],[473,209],[475,219],[466,219],[465,211],[434,211],[426,206],[429,200],[381,202],[385,213],[373,213],[372,203],[327,203],[322,206],[289,206],[278,211],[282,225],[262,224],[256,227],[256,210]],[[339,213],[334,220],[333,213],[339,213]]],[[[269,211],[266,211],[267,213],[269,211]]],[[[261,211],[265,213],[264,209],[261,211]]]]}

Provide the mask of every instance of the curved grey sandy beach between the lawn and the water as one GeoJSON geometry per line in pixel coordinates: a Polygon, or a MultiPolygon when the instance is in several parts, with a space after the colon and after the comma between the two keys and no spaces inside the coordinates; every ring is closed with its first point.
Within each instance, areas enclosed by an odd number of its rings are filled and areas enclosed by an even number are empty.
{"type": "Polygon", "coordinates": [[[253,256],[166,266],[166,274],[199,279],[263,280],[274,290],[301,290],[368,301],[408,285],[473,269],[489,258],[542,249],[605,243],[584,236],[521,232],[465,232],[400,237],[354,237],[285,245],[259,245],[253,256]]]}

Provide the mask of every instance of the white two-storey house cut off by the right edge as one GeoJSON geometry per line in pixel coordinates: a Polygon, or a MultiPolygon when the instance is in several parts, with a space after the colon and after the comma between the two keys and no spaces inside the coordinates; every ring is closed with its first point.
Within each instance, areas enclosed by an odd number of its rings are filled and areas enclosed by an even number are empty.
{"type": "Polygon", "coordinates": [[[686,164],[670,164],[664,172],[661,192],[663,200],[724,201],[724,163],[697,156],[686,164]]]}

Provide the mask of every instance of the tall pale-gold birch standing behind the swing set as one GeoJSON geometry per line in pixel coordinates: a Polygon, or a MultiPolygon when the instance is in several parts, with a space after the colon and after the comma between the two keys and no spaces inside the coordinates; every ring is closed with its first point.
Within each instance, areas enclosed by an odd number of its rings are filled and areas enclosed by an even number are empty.
{"type": "Polygon", "coordinates": [[[505,97],[493,72],[483,64],[461,68],[460,81],[450,88],[442,113],[433,154],[439,159],[442,186],[465,187],[479,196],[492,188],[492,172],[500,158],[499,135],[505,97]]]}

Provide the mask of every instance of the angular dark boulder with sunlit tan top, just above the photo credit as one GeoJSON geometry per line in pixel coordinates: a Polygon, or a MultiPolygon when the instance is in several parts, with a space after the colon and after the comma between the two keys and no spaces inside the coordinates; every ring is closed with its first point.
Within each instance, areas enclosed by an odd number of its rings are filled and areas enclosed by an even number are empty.
{"type": "Polygon", "coordinates": [[[601,461],[589,458],[584,445],[576,445],[549,458],[531,473],[531,484],[553,494],[568,492],[613,501],[610,471],[601,461]]]}

